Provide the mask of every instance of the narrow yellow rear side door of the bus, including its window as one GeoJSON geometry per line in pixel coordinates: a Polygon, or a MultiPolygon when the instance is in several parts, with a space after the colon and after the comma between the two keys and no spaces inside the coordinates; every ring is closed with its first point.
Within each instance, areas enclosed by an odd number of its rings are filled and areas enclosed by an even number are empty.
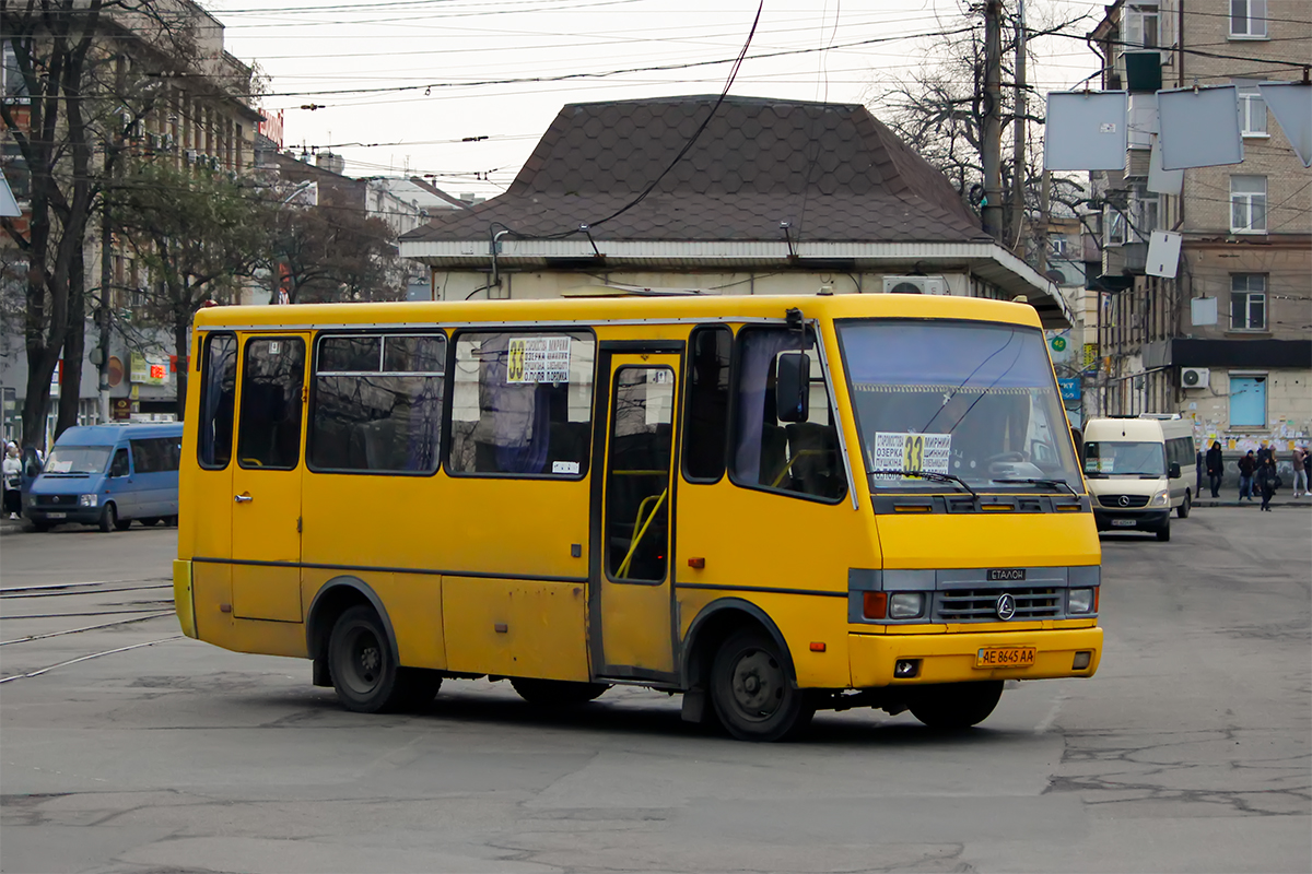
{"type": "Polygon", "coordinates": [[[283,622],[300,612],[300,470],[306,335],[248,337],[237,385],[232,470],[232,616],[283,622]]]}

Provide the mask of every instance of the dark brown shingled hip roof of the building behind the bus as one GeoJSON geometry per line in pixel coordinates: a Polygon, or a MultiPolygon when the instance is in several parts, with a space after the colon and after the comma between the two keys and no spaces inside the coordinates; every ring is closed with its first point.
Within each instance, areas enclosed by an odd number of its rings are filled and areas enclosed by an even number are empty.
{"type": "Polygon", "coordinates": [[[947,180],[858,104],[728,97],[652,193],[718,96],[569,104],[509,191],[407,240],[592,227],[601,240],[987,241],[947,180]]]}

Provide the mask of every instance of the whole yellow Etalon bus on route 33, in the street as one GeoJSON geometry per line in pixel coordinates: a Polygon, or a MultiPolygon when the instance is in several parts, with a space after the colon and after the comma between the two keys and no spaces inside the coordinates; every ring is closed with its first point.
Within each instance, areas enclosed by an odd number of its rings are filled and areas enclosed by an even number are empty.
{"type": "MultiPolygon", "coordinates": [[[[198,313],[177,616],[358,712],[615,684],[775,740],[1098,667],[1036,313],[916,295],[198,313]]],[[[618,292],[615,292],[618,295],[618,292]]]]}

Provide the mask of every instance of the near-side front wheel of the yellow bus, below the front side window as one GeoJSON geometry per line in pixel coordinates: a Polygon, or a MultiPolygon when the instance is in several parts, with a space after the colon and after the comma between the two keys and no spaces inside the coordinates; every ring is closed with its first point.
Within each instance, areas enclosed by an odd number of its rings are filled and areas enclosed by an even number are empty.
{"type": "Polygon", "coordinates": [[[715,653],[710,696],[715,715],[739,740],[783,740],[811,725],[815,705],[794,685],[779,646],[758,629],[735,632],[715,653]]]}

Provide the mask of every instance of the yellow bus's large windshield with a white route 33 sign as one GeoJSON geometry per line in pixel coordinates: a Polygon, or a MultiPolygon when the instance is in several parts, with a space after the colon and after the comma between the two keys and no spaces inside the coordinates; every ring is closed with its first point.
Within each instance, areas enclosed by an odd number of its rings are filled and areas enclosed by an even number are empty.
{"type": "Polygon", "coordinates": [[[1084,491],[1038,329],[851,320],[838,338],[871,487],[1084,491]]]}

